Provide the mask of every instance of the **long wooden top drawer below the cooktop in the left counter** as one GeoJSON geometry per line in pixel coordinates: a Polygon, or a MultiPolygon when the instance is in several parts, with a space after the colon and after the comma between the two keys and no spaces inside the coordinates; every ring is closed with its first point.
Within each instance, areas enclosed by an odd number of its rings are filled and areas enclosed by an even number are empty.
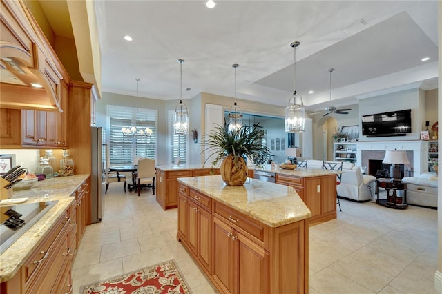
{"type": "MultiPolygon", "coordinates": [[[[67,212],[63,216],[63,220],[66,219],[68,219],[67,212]]],[[[41,245],[37,247],[34,253],[32,253],[28,260],[26,260],[25,264],[23,264],[24,280],[26,284],[28,284],[32,277],[37,274],[39,268],[44,267],[44,264],[48,262],[50,254],[52,254],[51,250],[53,251],[52,243],[55,242],[55,239],[57,238],[58,234],[63,230],[64,226],[66,226],[66,223],[64,223],[63,221],[59,222],[56,228],[49,233],[48,237],[44,239],[41,245]]]]}

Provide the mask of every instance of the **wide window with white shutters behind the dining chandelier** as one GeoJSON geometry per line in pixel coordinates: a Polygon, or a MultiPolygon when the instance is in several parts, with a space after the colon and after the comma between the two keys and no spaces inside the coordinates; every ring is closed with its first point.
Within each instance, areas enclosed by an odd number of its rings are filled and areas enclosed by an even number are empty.
{"type": "Polygon", "coordinates": [[[133,157],[156,159],[157,110],[108,106],[109,161],[110,165],[132,164],[133,157]],[[150,128],[152,134],[146,137],[125,137],[122,128],[137,126],[150,128]]]}

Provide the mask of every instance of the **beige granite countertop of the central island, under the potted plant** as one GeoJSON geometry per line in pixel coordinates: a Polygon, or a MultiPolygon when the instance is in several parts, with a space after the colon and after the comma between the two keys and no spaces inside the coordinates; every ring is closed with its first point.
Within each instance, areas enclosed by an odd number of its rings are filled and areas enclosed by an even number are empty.
{"type": "Polygon", "coordinates": [[[179,182],[271,227],[311,217],[294,188],[247,178],[242,186],[227,186],[220,175],[182,177],[179,182]]]}

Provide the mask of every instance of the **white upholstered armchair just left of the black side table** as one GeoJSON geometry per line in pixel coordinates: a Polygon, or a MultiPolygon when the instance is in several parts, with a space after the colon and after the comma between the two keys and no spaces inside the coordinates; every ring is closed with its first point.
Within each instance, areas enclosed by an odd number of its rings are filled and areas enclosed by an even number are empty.
{"type": "Polygon", "coordinates": [[[343,174],[340,185],[336,187],[339,197],[355,201],[367,201],[372,199],[376,188],[376,177],[363,175],[359,166],[349,162],[343,163],[343,174]]]}

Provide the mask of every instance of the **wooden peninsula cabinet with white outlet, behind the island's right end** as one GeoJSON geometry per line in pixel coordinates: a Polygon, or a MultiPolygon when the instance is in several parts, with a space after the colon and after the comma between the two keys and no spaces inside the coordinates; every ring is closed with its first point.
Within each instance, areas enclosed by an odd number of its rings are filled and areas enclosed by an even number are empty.
{"type": "Polygon", "coordinates": [[[276,174],[275,182],[296,190],[311,211],[310,224],[336,219],[336,175],[298,177],[276,174]]]}

